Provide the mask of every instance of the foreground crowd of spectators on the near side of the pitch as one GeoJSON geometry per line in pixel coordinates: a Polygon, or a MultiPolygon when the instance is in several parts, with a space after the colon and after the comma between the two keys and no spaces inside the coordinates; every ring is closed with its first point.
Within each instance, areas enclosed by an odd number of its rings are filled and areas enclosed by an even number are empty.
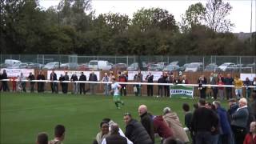
{"type": "MultiPolygon", "coordinates": [[[[229,100],[227,110],[219,101],[206,102],[200,98],[194,104],[194,111],[187,103],[182,108],[185,126],[182,126],[178,114],[170,107],[162,110],[162,115],[150,113],[146,105],[138,106],[140,120],[130,113],[123,115],[126,126],[123,131],[118,123],[103,118],[100,130],[93,144],[154,144],[160,139],[162,144],[254,144],[256,143],[256,93],[251,101],[240,98],[229,100]],[[188,133],[190,132],[190,138],[188,133]],[[191,139],[191,142],[190,142],[191,139]]],[[[54,139],[49,144],[60,144],[65,138],[65,127],[58,125],[54,130],[54,139]]],[[[38,144],[48,143],[46,133],[39,133],[38,144]]]]}

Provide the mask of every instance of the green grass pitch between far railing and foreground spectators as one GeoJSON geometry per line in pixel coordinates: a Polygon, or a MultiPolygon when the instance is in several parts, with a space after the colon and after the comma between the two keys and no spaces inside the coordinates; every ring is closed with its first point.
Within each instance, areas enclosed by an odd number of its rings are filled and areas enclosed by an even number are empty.
{"type": "Polygon", "coordinates": [[[38,132],[46,132],[54,138],[54,126],[66,126],[66,144],[92,143],[99,131],[102,118],[111,118],[125,130],[122,116],[130,112],[139,120],[138,106],[145,104],[154,115],[170,106],[184,123],[182,103],[197,100],[177,98],[122,97],[125,106],[118,110],[112,96],[79,94],[1,94],[1,142],[2,144],[34,143],[38,132]]]}

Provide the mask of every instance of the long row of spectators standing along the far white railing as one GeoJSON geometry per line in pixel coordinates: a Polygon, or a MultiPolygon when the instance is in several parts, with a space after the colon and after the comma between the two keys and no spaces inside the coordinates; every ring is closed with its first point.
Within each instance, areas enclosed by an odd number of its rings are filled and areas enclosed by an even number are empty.
{"type": "MultiPolygon", "coordinates": [[[[71,91],[71,94],[86,94],[86,92],[90,91],[90,94],[96,93],[96,86],[97,83],[89,83],[88,86],[86,83],[77,82],[77,81],[90,81],[90,82],[110,82],[111,78],[114,78],[114,73],[110,71],[110,74],[105,73],[102,79],[98,79],[97,75],[94,74],[94,71],[90,73],[89,78],[86,78],[86,75],[81,72],[79,78],[77,74],[72,74],[71,78],[67,74],[67,72],[63,72],[63,74],[60,75],[59,78],[57,78],[57,74],[52,70],[50,73],[50,89],[52,93],[58,94],[60,89],[62,91],[62,94],[67,94],[69,90],[69,86],[73,88],[71,91]],[[67,82],[66,82],[67,81],[67,82]],[[68,82],[72,82],[69,84],[68,82]]],[[[154,75],[149,72],[149,74],[146,75],[146,77],[143,77],[142,72],[138,70],[138,74],[134,74],[134,82],[143,82],[144,80],[148,83],[154,83],[154,75]]],[[[0,80],[1,79],[8,79],[8,76],[6,74],[6,70],[3,70],[0,74],[0,80]]],[[[12,83],[12,91],[24,91],[26,92],[27,89],[30,90],[31,93],[34,92],[34,86],[37,83],[37,90],[38,93],[42,93],[46,89],[46,82],[33,82],[32,80],[46,80],[46,76],[42,73],[42,71],[39,71],[38,75],[35,77],[34,74],[30,73],[28,77],[25,77],[24,74],[20,74],[17,77],[10,78],[12,83]],[[28,82],[25,82],[24,80],[28,80],[28,82]],[[29,87],[27,87],[27,83],[30,84],[29,87]]],[[[119,71],[116,78],[117,82],[128,82],[128,73],[127,71],[119,71]]],[[[163,72],[160,78],[158,78],[158,83],[172,83],[172,84],[190,84],[188,79],[186,78],[186,75],[183,74],[181,77],[174,76],[174,74],[170,72],[163,72]]],[[[110,83],[104,83],[104,94],[111,95],[110,94],[110,83]]],[[[122,86],[120,90],[120,94],[126,96],[127,94],[127,85],[126,84],[120,84],[122,86]]],[[[249,86],[256,86],[256,78],[254,78],[253,81],[250,81],[249,78],[246,78],[246,81],[242,82],[242,80],[238,77],[238,75],[235,76],[235,78],[232,78],[230,74],[226,74],[226,77],[224,77],[221,73],[219,74],[210,74],[210,78],[206,78],[204,75],[200,76],[198,78],[198,91],[200,98],[214,98],[215,100],[219,98],[220,100],[224,99],[230,99],[233,98],[232,95],[232,87],[226,87],[225,85],[231,85],[234,86],[234,92],[235,92],[235,98],[239,99],[242,97],[249,98],[251,92],[256,92],[256,87],[250,88],[249,86]],[[209,85],[218,85],[218,86],[205,86],[206,84],[209,85]],[[225,87],[224,87],[225,86],[225,87]],[[243,88],[246,90],[245,93],[243,93],[243,88]],[[245,95],[243,95],[245,94],[245,95]]],[[[147,85],[146,86],[146,94],[147,96],[153,96],[154,94],[154,85],[147,85]]],[[[10,91],[10,88],[8,86],[7,81],[2,81],[0,86],[0,91],[10,91]]],[[[133,85],[133,92],[135,96],[142,96],[142,85],[141,84],[134,84],[133,85]]],[[[157,96],[159,97],[170,97],[170,86],[169,85],[158,85],[158,92],[157,96]]]]}

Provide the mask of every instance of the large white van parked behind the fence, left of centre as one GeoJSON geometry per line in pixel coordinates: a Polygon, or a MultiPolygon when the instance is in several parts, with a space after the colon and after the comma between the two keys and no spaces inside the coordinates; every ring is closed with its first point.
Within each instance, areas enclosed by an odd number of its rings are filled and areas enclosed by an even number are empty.
{"type": "Polygon", "coordinates": [[[90,70],[110,70],[112,68],[110,62],[97,60],[90,61],[88,67],[90,70]]]}

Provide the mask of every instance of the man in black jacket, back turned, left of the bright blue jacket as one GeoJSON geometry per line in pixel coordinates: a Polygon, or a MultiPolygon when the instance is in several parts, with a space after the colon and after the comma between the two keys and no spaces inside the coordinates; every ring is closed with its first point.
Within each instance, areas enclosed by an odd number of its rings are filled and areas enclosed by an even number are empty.
{"type": "Polygon", "coordinates": [[[206,108],[206,100],[201,98],[198,102],[199,108],[194,110],[191,129],[195,133],[195,142],[201,144],[211,143],[211,132],[218,127],[218,116],[213,110],[206,108]]]}

